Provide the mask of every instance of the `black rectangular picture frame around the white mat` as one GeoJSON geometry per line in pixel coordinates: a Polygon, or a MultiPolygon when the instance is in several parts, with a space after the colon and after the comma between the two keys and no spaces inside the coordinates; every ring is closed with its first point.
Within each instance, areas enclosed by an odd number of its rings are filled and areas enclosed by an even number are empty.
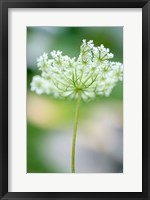
{"type": "Polygon", "coordinates": [[[1,199],[150,199],[150,1],[149,0],[0,0],[0,198],[1,199]],[[8,192],[8,9],[142,8],[142,192],[8,192]]]}

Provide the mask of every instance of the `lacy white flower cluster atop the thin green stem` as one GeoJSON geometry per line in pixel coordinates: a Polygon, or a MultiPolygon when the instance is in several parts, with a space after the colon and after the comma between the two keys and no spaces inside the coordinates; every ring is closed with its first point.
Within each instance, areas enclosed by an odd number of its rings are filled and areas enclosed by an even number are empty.
{"type": "Polygon", "coordinates": [[[78,96],[86,101],[96,95],[109,96],[116,83],[123,79],[123,65],[112,62],[113,54],[103,45],[94,47],[93,41],[83,40],[78,58],[52,51],[51,58],[44,53],[37,59],[41,76],[34,76],[31,90],[37,94],[55,97],[78,96]]]}

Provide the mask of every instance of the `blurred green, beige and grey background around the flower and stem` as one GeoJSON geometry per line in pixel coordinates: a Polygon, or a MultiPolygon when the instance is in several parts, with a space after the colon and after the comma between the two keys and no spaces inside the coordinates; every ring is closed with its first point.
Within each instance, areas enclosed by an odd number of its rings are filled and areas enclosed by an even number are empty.
{"type": "MultiPolygon", "coordinates": [[[[104,44],[123,62],[122,27],[27,27],[27,172],[71,173],[71,145],[76,102],[30,91],[40,74],[36,59],[61,50],[77,57],[82,40],[104,44]]],[[[123,83],[110,97],[82,103],[76,142],[77,173],[123,172],[123,83]]]]}

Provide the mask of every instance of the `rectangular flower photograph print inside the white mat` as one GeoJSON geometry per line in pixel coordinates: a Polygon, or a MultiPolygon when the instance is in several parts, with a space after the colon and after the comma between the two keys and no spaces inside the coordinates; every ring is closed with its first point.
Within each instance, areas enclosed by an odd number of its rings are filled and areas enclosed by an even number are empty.
{"type": "Polygon", "coordinates": [[[27,173],[123,173],[123,27],[27,27],[27,173]]]}

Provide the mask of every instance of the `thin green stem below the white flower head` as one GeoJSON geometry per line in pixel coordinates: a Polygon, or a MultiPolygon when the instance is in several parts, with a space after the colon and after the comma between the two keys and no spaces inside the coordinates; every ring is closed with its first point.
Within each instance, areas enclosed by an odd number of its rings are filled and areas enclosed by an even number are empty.
{"type": "Polygon", "coordinates": [[[76,135],[77,135],[77,128],[78,128],[80,101],[81,101],[81,95],[79,93],[78,99],[77,99],[77,106],[75,110],[74,130],[73,130],[73,138],[72,138],[72,160],[71,160],[72,173],[75,173],[75,149],[76,149],[76,135]]]}

